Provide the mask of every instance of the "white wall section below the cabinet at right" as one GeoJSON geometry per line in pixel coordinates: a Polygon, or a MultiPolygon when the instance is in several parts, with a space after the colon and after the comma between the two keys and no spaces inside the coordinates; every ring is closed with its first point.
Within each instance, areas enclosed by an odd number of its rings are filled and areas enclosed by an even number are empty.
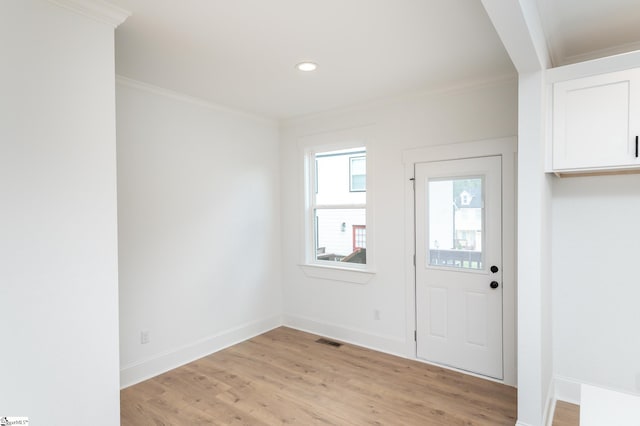
{"type": "Polygon", "coordinates": [[[553,182],[553,354],[562,380],[640,393],[640,175],[553,182]]]}

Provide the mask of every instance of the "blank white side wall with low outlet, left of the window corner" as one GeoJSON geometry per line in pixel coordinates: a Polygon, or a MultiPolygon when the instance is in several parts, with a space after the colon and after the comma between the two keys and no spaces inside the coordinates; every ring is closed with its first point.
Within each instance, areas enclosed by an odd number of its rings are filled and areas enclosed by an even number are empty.
{"type": "Polygon", "coordinates": [[[117,121],[127,386],[280,324],[279,140],[272,121],[123,79],[117,121]]]}

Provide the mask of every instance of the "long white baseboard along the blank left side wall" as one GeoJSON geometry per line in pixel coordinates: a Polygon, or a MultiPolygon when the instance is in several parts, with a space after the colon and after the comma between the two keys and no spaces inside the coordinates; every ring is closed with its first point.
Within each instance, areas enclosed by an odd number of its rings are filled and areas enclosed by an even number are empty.
{"type": "Polygon", "coordinates": [[[275,315],[225,330],[152,358],[124,365],[120,368],[120,388],[135,385],[281,325],[282,317],[275,315]]]}

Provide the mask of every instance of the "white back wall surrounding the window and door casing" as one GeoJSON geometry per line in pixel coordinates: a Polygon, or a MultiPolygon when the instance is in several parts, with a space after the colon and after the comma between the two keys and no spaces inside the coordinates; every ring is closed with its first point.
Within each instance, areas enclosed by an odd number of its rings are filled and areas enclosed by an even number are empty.
{"type": "MultiPolygon", "coordinates": [[[[405,181],[409,148],[517,133],[517,83],[422,94],[285,122],[282,126],[283,283],[285,323],[380,350],[410,352],[406,309],[405,181]],[[351,129],[367,138],[368,200],[374,223],[375,277],[367,284],[310,278],[298,264],[303,247],[303,152],[306,136],[351,129]],[[374,310],[380,320],[374,319],[374,310]]],[[[354,136],[355,137],[355,136],[354,136]]],[[[369,253],[367,253],[369,254],[369,253]]]]}

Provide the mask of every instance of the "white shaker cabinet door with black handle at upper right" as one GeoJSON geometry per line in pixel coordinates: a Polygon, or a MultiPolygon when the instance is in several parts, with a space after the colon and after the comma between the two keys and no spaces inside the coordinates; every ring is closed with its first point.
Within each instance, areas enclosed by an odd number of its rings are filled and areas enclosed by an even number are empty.
{"type": "Polygon", "coordinates": [[[640,165],[639,91],[639,69],[554,84],[554,170],[640,165]]]}

